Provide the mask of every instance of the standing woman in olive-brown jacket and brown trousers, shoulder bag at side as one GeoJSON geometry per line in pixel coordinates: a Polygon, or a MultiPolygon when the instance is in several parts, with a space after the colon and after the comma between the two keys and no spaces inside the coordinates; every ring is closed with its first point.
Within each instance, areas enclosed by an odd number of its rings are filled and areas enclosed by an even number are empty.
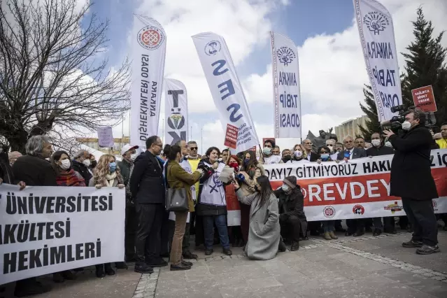
{"type": "MultiPolygon", "coordinates": [[[[198,169],[194,173],[187,173],[181,166],[180,162],[183,160],[183,155],[180,146],[164,146],[164,154],[167,157],[167,162],[164,165],[164,174],[166,177],[166,187],[174,189],[185,189],[188,199],[189,212],[194,212],[194,202],[192,201],[191,185],[194,185],[203,171],[198,169]]],[[[186,262],[182,258],[182,243],[185,235],[185,226],[188,211],[175,211],[176,214],[176,228],[174,230],[171,257],[171,271],[188,270],[191,269],[192,263],[186,262]]]]}

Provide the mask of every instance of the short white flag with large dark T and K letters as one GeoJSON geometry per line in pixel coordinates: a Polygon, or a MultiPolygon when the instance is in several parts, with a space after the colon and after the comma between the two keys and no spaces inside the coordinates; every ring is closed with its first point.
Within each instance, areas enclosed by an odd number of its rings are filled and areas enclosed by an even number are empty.
{"type": "Polygon", "coordinates": [[[180,140],[188,141],[187,93],[179,80],[164,79],[166,129],[164,143],[174,145],[180,140]]]}

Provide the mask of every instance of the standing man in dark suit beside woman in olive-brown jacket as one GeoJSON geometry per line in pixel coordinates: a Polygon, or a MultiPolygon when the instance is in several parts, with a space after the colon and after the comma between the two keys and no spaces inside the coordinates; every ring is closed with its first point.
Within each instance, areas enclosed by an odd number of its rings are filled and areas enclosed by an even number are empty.
{"type": "Polygon", "coordinates": [[[129,181],[139,221],[135,241],[135,271],[141,274],[150,274],[153,272],[152,267],[168,264],[160,257],[166,197],[163,164],[157,159],[162,147],[162,140],[158,136],[150,136],[146,140],[147,150],[136,157],[129,181]]]}

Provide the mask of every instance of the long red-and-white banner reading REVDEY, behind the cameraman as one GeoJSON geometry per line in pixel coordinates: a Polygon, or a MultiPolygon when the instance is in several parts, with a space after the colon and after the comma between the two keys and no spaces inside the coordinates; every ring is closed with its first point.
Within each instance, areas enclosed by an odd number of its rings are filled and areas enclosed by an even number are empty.
{"type": "MultiPolygon", "coordinates": [[[[376,218],[405,215],[402,201],[390,196],[393,155],[351,159],[348,162],[265,164],[276,190],[288,176],[296,176],[304,194],[308,221],[376,218]]],[[[435,213],[447,213],[447,149],[432,150],[432,176],[438,199],[435,213]]]]}

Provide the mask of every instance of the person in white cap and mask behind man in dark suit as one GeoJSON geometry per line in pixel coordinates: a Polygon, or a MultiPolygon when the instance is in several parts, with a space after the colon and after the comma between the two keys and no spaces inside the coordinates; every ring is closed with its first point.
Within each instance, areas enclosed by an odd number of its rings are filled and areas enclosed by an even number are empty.
{"type": "MultiPolygon", "coordinates": [[[[138,221],[136,216],[136,208],[134,199],[132,198],[132,192],[130,191],[129,179],[134,170],[134,161],[138,154],[136,149],[139,146],[132,146],[126,144],[121,148],[122,161],[118,162],[118,168],[120,169],[123,184],[126,185],[126,219],[125,219],[125,260],[126,262],[134,262],[135,259],[135,238],[136,229],[138,227],[138,221]]],[[[116,264],[118,269],[126,269],[127,266],[124,262],[116,264]]]]}

